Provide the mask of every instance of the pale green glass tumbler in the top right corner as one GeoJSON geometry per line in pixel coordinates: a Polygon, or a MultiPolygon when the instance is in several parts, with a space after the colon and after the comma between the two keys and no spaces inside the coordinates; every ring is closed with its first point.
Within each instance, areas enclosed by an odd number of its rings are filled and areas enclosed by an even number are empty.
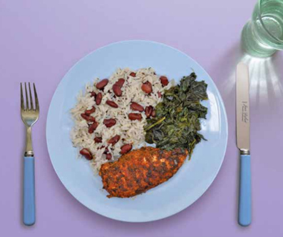
{"type": "Polygon", "coordinates": [[[242,30],[242,48],[252,56],[268,57],[283,49],[283,0],[259,0],[242,30]]]}

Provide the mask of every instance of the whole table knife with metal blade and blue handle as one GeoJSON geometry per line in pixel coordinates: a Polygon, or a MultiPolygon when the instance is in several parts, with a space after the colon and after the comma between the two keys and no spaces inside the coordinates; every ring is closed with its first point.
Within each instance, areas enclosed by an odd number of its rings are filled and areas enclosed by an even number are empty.
{"type": "Polygon", "coordinates": [[[238,223],[252,222],[251,161],[249,154],[249,69],[240,62],[236,72],[237,148],[240,149],[238,223]]]}

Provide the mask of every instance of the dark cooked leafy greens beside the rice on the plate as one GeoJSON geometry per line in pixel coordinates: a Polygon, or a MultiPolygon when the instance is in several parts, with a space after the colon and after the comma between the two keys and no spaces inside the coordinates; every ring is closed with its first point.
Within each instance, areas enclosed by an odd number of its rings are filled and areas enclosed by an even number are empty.
{"type": "Polygon", "coordinates": [[[207,84],[196,81],[195,73],[184,76],[180,84],[165,91],[163,102],[156,107],[155,118],[148,119],[145,141],[166,150],[193,148],[205,138],[200,131],[200,119],[206,119],[207,108],[200,101],[207,100],[207,84]]]}

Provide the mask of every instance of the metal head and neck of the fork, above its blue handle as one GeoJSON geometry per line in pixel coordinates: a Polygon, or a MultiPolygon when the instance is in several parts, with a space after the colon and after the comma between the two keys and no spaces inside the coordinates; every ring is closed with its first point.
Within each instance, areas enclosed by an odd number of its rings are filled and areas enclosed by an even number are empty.
{"type": "Polygon", "coordinates": [[[25,156],[34,156],[34,151],[32,149],[32,144],[31,144],[31,126],[33,126],[34,123],[36,123],[36,121],[38,120],[38,116],[39,116],[39,104],[36,93],[36,85],[34,84],[34,100],[33,100],[32,92],[31,92],[31,84],[29,83],[29,92],[26,83],[24,84],[24,91],[23,91],[23,85],[21,84],[21,119],[26,126],[25,156]],[[26,97],[26,103],[24,101],[24,94],[26,97]]]}

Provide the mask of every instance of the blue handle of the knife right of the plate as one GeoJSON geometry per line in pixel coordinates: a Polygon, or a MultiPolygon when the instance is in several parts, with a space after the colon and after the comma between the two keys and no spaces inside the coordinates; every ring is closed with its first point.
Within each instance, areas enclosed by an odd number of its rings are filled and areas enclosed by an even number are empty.
{"type": "Polygon", "coordinates": [[[240,157],[240,196],[238,222],[241,226],[249,226],[252,222],[252,180],[251,160],[249,155],[240,157]]]}

